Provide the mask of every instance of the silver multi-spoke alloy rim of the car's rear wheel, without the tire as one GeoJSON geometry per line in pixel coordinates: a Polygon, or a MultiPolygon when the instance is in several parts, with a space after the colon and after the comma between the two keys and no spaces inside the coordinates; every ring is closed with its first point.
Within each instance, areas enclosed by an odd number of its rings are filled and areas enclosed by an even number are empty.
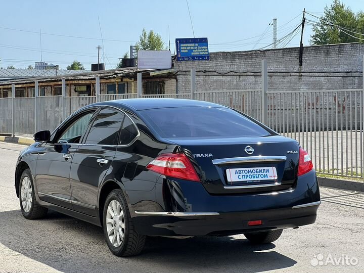
{"type": "Polygon", "coordinates": [[[123,209],[116,200],[109,203],[106,213],[106,230],[112,245],[119,247],[124,238],[125,219],[123,209]]]}

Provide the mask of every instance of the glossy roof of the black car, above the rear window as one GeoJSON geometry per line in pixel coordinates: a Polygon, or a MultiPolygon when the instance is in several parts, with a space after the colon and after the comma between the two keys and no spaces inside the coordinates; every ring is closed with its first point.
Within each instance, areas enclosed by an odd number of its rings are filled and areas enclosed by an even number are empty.
{"type": "MultiPolygon", "coordinates": [[[[114,100],[102,103],[96,103],[93,105],[110,105],[110,106],[121,106],[122,108],[141,111],[147,109],[156,108],[172,108],[172,107],[219,107],[226,108],[223,105],[209,103],[204,101],[196,100],[184,100],[184,99],[166,99],[166,98],[141,98],[141,99],[124,99],[114,100]]],[[[90,105],[91,106],[91,105],[90,105]]]]}

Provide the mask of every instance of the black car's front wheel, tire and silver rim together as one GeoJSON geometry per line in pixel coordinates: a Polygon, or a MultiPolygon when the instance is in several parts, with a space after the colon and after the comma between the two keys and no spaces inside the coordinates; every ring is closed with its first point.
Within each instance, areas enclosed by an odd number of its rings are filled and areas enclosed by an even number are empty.
{"type": "Polygon", "coordinates": [[[25,169],[20,177],[19,202],[20,210],[27,219],[39,219],[47,215],[48,208],[39,206],[36,201],[33,178],[29,169],[25,169]]]}

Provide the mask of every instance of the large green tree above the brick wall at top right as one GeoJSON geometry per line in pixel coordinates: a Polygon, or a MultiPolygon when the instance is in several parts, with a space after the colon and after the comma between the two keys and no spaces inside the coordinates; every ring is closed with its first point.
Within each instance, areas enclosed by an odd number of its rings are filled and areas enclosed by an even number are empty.
{"type": "Polygon", "coordinates": [[[364,13],[359,11],[355,14],[340,0],[334,0],[330,7],[325,7],[324,15],[319,23],[313,25],[312,30],[311,44],[364,42],[364,13]]]}

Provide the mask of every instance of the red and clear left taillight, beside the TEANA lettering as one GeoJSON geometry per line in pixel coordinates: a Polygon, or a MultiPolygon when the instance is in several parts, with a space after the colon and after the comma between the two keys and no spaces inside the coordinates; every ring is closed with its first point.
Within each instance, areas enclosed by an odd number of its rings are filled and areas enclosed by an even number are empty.
{"type": "Polygon", "coordinates": [[[168,177],[200,182],[194,166],[184,153],[161,154],[148,164],[147,169],[168,177]]]}

